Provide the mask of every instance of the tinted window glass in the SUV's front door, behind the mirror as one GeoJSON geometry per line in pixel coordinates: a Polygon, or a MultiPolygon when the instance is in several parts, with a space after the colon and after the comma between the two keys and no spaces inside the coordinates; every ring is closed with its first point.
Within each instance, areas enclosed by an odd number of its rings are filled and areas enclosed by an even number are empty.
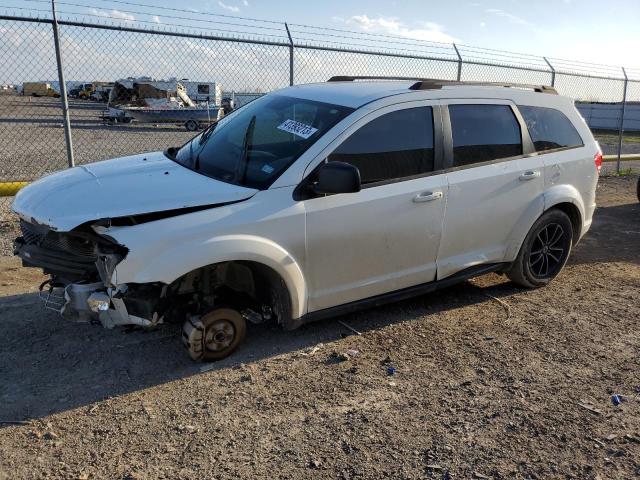
{"type": "Polygon", "coordinates": [[[347,138],[329,161],[350,163],[362,184],[433,171],[433,111],[416,107],[382,115],[347,138]]]}

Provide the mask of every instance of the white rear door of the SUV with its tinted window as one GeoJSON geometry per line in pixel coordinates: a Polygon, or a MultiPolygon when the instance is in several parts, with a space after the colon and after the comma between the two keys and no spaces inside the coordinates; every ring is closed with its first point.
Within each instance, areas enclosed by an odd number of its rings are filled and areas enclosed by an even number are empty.
{"type": "Polygon", "coordinates": [[[450,100],[443,110],[449,198],[438,278],[510,260],[514,234],[542,213],[542,159],[511,102],[450,100]]]}

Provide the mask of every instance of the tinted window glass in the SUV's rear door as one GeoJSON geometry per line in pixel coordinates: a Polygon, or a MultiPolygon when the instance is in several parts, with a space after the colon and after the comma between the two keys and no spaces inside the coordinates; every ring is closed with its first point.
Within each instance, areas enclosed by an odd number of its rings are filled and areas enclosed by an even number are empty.
{"type": "Polygon", "coordinates": [[[522,155],[520,125],[508,105],[449,105],[453,166],[522,155]]]}

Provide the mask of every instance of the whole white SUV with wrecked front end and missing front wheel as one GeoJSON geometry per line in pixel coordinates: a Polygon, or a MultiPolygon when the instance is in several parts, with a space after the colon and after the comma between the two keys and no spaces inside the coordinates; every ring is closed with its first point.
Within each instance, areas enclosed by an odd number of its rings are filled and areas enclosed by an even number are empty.
{"type": "Polygon", "coordinates": [[[246,321],[292,329],[490,271],[554,278],[602,160],[573,102],[367,79],[285,88],[181,147],[49,175],[15,199],[15,253],[51,275],[49,308],[182,321],[197,360],[230,354],[246,321]]]}

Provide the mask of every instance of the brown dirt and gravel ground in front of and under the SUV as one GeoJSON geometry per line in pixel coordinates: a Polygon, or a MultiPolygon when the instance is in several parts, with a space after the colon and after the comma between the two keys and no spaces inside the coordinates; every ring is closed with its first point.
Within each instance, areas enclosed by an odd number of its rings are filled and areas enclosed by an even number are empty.
{"type": "Polygon", "coordinates": [[[66,323],[41,275],[0,257],[0,478],[637,478],[635,180],[601,179],[592,230],[546,288],[492,274],[252,326],[204,372],[178,327],[66,323]]]}

